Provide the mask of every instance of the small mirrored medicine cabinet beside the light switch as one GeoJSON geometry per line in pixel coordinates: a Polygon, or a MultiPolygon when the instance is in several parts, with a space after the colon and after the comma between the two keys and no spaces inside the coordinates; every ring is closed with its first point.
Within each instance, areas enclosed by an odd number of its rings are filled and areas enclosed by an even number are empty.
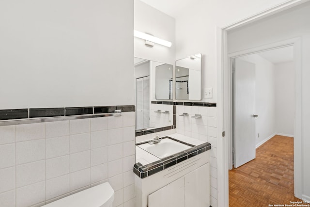
{"type": "Polygon", "coordinates": [[[175,62],[175,99],[202,99],[202,54],[175,62]]]}

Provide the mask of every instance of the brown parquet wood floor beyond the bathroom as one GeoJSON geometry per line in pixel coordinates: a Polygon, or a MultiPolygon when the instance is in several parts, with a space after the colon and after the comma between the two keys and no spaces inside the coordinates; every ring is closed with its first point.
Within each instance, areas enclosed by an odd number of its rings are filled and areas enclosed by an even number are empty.
{"type": "Polygon", "coordinates": [[[290,204],[294,197],[294,143],[276,135],[256,149],[256,159],[229,171],[230,207],[290,204]]]}

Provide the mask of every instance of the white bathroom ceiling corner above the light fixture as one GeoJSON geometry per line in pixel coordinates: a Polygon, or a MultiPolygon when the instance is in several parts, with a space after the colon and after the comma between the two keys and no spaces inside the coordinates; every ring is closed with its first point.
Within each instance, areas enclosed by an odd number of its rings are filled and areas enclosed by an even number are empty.
{"type": "Polygon", "coordinates": [[[188,6],[200,0],[141,0],[142,2],[162,11],[163,13],[176,18],[188,6]]]}

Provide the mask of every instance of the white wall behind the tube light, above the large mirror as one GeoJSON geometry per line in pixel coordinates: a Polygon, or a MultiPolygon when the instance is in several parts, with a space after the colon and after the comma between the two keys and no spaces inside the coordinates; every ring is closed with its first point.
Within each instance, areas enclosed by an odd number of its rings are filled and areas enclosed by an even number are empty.
{"type": "Polygon", "coordinates": [[[161,63],[173,64],[175,62],[175,20],[155,8],[134,0],[134,27],[135,30],[152,34],[172,43],[171,48],[157,45],[153,48],[144,44],[144,40],[134,38],[135,57],[161,63]]]}

